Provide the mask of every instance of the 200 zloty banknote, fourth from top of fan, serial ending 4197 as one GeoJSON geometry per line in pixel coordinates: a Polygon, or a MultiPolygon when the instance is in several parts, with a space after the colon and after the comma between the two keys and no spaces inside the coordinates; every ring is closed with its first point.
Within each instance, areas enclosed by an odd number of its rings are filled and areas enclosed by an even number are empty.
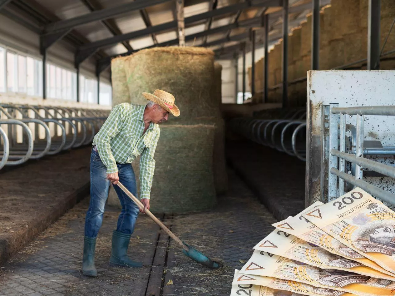
{"type": "Polygon", "coordinates": [[[275,277],[359,296],[393,295],[395,282],[343,270],[321,269],[297,260],[255,250],[241,274],[275,277]]]}

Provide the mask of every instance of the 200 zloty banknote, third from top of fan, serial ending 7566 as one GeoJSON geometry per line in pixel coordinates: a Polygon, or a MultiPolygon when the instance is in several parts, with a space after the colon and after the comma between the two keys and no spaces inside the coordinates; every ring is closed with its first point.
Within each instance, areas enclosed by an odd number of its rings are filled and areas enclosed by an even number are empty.
{"type": "Polygon", "coordinates": [[[298,260],[319,268],[344,270],[391,281],[395,280],[390,275],[378,272],[354,260],[332,254],[318,245],[305,242],[301,238],[278,229],[263,238],[254,249],[298,260]]]}

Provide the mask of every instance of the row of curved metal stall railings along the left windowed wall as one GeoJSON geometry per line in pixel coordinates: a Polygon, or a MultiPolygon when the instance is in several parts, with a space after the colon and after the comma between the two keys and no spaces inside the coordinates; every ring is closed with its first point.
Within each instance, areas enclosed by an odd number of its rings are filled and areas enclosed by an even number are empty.
{"type": "Polygon", "coordinates": [[[92,143],[108,114],[106,110],[0,103],[0,169],[92,143]]]}

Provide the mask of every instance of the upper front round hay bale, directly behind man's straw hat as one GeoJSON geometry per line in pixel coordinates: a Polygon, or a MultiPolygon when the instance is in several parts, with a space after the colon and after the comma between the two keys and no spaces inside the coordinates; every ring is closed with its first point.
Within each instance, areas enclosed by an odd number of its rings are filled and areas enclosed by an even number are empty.
{"type": "Polygon", "coordinates": [[[211,97],[214,52],[202,47],[156,47],[127,57],[125,64],[131,103],[145,104],[142,92],[161,89],[173,94],[181,116],[220,116],[211,97]]]}

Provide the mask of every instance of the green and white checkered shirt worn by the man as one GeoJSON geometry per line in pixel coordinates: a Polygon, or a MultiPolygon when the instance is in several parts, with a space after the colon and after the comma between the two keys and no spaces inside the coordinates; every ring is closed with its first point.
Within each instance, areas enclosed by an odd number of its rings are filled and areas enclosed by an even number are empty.
{"type": "Polygon", "coordinates": [[[122,103],[111,110],[110,115],[93,139],[100,159],[107,167],[107,174],[118,171],[117,163],[132,163],[140,159],[140,198],[149,199],[155,170],[154,153],[158,144],[160,129],[150,123],[144,131],[145,106],[122,103]]]}

